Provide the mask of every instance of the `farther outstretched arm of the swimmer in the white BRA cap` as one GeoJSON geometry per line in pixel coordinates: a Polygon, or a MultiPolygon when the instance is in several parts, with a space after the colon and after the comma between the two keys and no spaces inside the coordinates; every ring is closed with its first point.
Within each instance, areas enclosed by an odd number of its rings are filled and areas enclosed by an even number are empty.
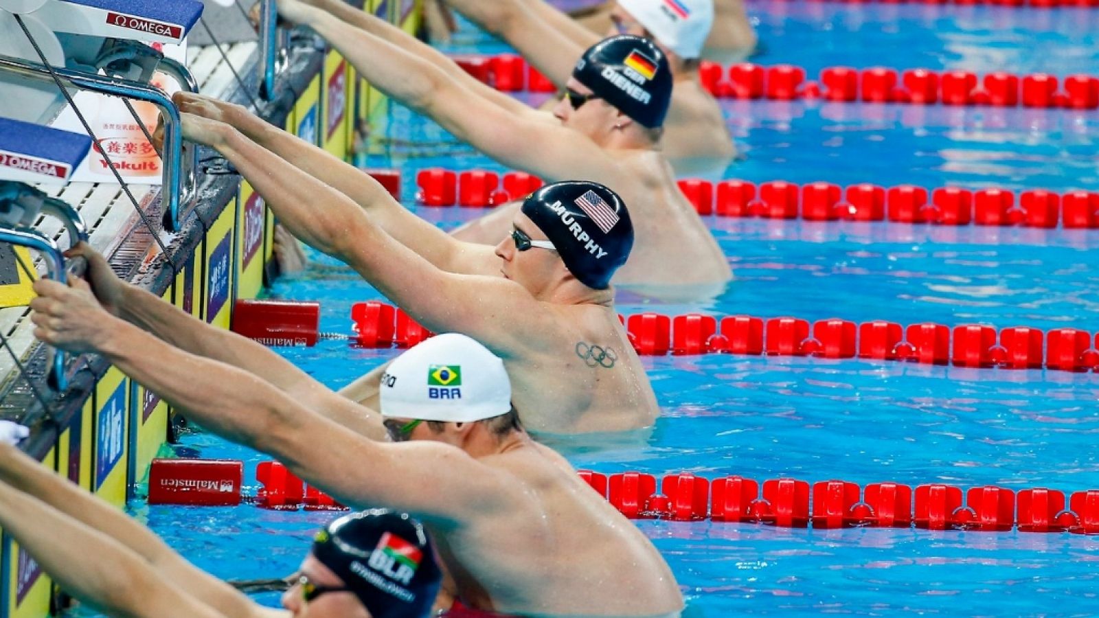
{"type": "Polygon", "coordinates": [[[87,244],[70,256],[88,261],[88,277],[103,307],[171,345],[255,374],[301,405],[375,440],[385,440],[381,417],[333,393],[266,346],[207,324],[144,289],[121,282],[102,255],[87,244]]]}

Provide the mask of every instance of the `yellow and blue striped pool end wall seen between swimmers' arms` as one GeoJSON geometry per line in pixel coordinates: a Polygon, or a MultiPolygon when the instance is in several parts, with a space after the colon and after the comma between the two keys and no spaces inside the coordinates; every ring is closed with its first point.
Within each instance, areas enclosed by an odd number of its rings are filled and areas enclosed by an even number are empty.
{"type": "MultiPolygon", "coordinates": [[[[420,0],[367,0],[365,4],[366,10],[409,32],[419,27],[420,0]]],[[[255,62],[253,57],[248,65],[255,62]]],[[[254,88],[255,77],[246,85],[254,88]]],[[[356,128],[384,111],[384,97],[340,54],[320,45],[293,47],[276,95],[275,104],[265,109],[270,122],[342,157],[355,147],[356,128]]],[[[240,102],[244,93],[229,92],[223,98],[240,102]]],[[[197,217],[171,243],[168,258],[153,260],[140,252],[145,263],[132,280],[190,314],[227,329],[235,300],[255,298],[275,272],[274,218],[252,187],[236,176],[207,176],[200,185],[203,197],[197,217]]],[[[144,236],[135,242],[149,244],[152,239],[144,236]]],[[[58,411],[36,424],[25,448],[44,465],[122,506],[168,439],[170,412],[155,395],[93,360],[73,376],[58,411]]],[[[49,577],[4,534],[0,541],[0,618],[49,615],[55,593],[49,577]]]]}

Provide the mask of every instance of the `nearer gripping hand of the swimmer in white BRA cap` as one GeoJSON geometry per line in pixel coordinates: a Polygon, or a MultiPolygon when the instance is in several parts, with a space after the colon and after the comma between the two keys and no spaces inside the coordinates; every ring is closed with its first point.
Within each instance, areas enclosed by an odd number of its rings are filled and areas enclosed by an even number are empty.
{"type": "Polygon", "coordinates": [[[91,287],[71,277],[69,285],[53,279],[34,282],[37,298],[31,300],[34,336],[74,354],[98,352],[111,336],[114,320],[96,300],[91,287]]]}

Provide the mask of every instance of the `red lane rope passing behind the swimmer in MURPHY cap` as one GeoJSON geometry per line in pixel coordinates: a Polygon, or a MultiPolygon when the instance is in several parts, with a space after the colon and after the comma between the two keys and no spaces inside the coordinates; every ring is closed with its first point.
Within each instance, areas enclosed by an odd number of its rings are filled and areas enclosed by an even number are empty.
{"type": "MultiPolygon", "coordinates": [[[[315,344],[319,307],[314,302],[238,300],[233,331],[260,342],[315,344]],[[309,343],[312,342],[312,343],[309,343]]],[[[408,313],[379,301],[352,306],[353,340],[363,347],[411,347],[432,335],[408,313]]],[[[856,323],[831,318],[702,313],[619,317],[634,350],[644,356],[743,354],[874,358],[962,367],[1099,371],[1099,333],[1063,328],[1048,332],[1031,327],[999,331],[987,324],[953,328],[934,322],[903,325],[888,320],[856,323]]],[[[333,335],[329,335],[333,336],[333,335]]],[[[286,344],[286,343],[284,343],[286,344]]]]}

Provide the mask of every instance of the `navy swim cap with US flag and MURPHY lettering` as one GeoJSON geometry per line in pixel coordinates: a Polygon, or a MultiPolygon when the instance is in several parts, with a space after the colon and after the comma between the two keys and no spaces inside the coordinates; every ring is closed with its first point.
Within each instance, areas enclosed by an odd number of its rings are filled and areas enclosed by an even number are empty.
{"type": "Polygon", "coordinates": [[[573,276],[607,289],[633,247],[633,223],[618,194],[599,183],[554,183],[523,200],[523,214],[557,249],[573,276]]]}

